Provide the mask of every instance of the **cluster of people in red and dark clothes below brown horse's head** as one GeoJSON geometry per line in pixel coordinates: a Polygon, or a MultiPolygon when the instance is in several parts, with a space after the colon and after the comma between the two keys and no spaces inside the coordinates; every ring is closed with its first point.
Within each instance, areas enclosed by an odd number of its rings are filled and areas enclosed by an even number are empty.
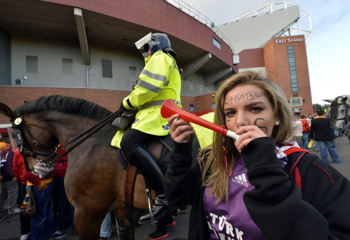
{"type": "MultiPolygon", "coordinates": [[[[40,179],[26,170],[19,149],[12,149],[9,138],[3,139],[6,144],[0,149],[0,211],[7,211],[7,214],[20,213],[29,189],[35,201],[33,215],[19,214],[21,240],[60,239],[67,235],[63,231],[70,225],[72,235],[77,236],[74,227],[74,208],[68,201],[63,184],[67,161],[56,162],[53,174],[40,179]],[[7,207],[4,204],[6,198],[7,207]]],[[[64,149],[58,154],[63,152],[64,149]]],[[[6,215],[1,216],[1,220],[5,218],[6,215]]]]}

